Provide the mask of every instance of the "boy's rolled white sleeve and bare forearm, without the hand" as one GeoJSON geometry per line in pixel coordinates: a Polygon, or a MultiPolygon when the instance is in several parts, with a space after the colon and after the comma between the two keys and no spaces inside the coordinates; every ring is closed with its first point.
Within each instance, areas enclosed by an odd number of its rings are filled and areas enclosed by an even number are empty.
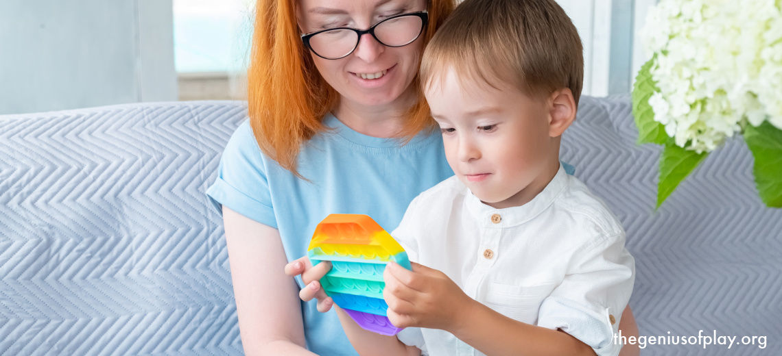
{"type": "Polygon", "coordinates": [[[538,326],[517,322],[485,305],[472,308],[472,324],[454,336],[485,354],[619,354],[615,336],[633,291],[635,262],[620,231],[570,262],[568,274],[543,300],[538,326]]]}

